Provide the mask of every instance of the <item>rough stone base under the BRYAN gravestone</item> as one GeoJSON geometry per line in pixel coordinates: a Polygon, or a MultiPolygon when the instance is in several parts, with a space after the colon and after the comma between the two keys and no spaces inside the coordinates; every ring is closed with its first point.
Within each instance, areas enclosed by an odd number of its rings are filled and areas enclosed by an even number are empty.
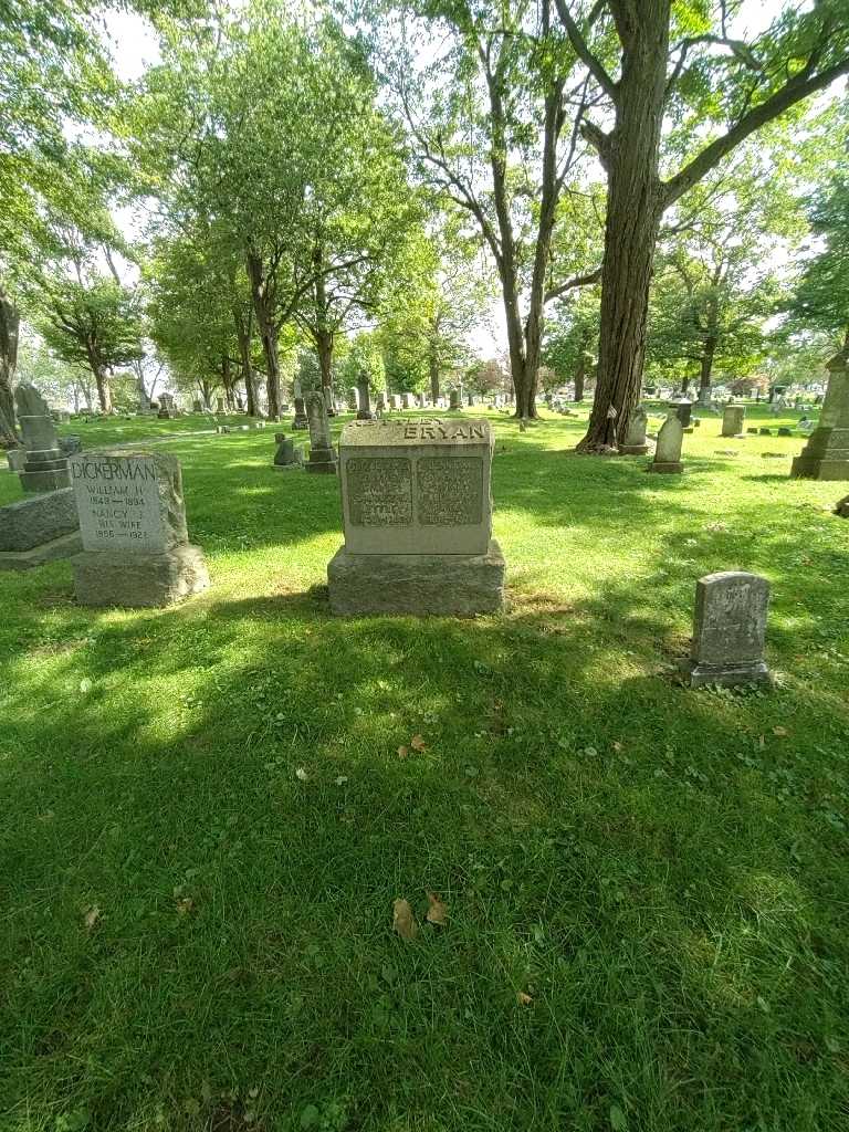
{"type": "Polygon", "coordinates": [[[484,555],[352,555],[340,547],[327,564],[331,609],[343,616],[495,614],[504,607],[504,573],[495,539],[484,555]]]}

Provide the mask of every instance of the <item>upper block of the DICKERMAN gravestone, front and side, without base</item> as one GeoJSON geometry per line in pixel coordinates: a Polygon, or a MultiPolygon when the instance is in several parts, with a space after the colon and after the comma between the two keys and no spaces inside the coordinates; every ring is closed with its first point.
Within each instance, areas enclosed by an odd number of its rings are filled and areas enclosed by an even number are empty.
{"type": "Polygon", "coordinates": [[[69,460],[85,550],[163,551],[187,541],[180,463],[149,453],[69,460]]]}

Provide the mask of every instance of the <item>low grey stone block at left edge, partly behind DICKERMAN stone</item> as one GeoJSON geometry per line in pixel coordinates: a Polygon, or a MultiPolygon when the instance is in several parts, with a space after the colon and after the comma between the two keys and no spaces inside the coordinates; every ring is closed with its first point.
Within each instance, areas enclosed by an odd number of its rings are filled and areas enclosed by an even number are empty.
{"type": "Polygon", "coordinates": [[[31,569],[82,549],[72,488],[0,507],[0,571],[31,569]]]}

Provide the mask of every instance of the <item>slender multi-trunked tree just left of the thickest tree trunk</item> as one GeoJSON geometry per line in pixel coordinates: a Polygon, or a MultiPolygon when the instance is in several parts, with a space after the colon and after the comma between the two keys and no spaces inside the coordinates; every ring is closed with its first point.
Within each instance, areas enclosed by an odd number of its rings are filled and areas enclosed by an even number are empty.
{"type": "Polygon", "coordinates": [[[381,33],[386,83],[419,175],[464,211],[496,265],[516,415],[533,417],[546,300],[598,274],[582,241],[555,235],[585,153],[576,127],[589,84],[573,74],[550,0],[401,7],[404,19],[381,33]]]}

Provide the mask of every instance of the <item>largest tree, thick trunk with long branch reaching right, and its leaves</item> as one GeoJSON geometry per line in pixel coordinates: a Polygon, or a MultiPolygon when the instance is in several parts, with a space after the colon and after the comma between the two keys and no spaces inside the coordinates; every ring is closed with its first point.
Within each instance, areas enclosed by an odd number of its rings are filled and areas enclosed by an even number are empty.
{"type": "Polygon", "coordinates": [[[619,428],[640,393],[649,284],[663,213],[756,130],[849,71],[849,9],[787,5],[745,41],[737,9],[671,0],[556,0],[557,12],[603,109],[582,132],[608,177],[599,384],[578,446],[604,448],[608,411],[619,428]],[[686,146],[668,146],[666,120],[686,120],[686,146]],[[709,134],[710,131],[710,134],[709,134]],[[710,137],[710,135],[713,135],[710,137]],[[710,137],[710,140],[707,139],[710,137]],[[677,168],[676,168],[677,166],[677,168]]]}

